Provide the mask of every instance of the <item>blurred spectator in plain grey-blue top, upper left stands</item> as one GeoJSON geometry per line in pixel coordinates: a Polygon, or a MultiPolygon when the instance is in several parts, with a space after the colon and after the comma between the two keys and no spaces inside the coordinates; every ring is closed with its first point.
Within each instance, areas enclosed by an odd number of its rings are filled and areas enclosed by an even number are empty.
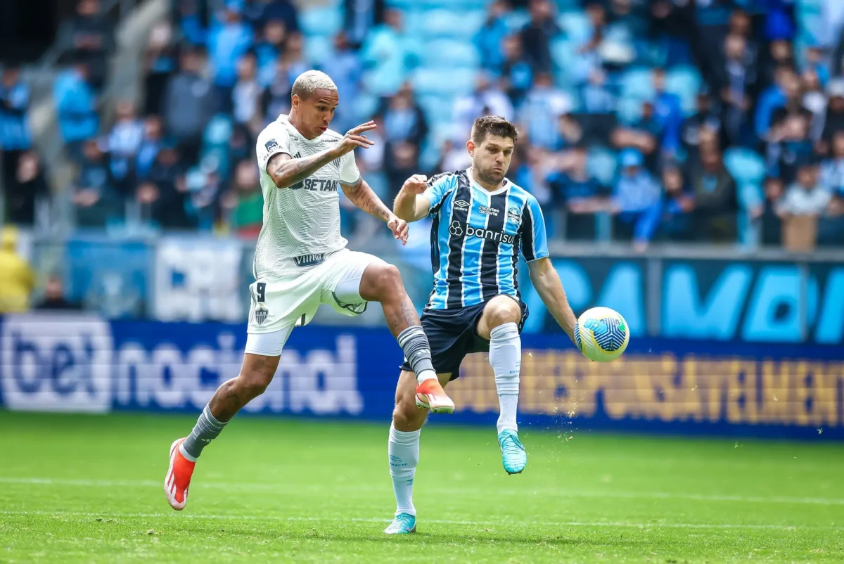
{"type": "Polygon", "coordinates": [[[200,52],[181,54],[181,70],[167,84],[164,121],[167,131],[176,138],[181,155],[190,163],[198,160],[203,129],[217,107],[217,95],[211,82],[200,73],[203,58],[200,52]]]}

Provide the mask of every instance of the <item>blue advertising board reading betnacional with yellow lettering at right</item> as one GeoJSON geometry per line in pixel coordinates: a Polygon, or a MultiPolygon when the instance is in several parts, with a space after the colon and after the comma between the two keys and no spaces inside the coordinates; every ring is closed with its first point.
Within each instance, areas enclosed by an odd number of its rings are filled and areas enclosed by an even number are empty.
{"type": "MultiPolygon", "coordinates": [[[[7,409],[197,412],[235,377],[246,328],[32,314],[0,320],[7,409]]],[[[298,328],[247,413],[387,421],[402,353],[385,329],[298,328]]],[[[495,381],[471,355],[434,424],[494,425],[495,381]]],[[[618,361],[587,361],[560,335],[523,339],[520,421],[619,430],[844,440],[844,350],[639,338],[618,361]]]]}

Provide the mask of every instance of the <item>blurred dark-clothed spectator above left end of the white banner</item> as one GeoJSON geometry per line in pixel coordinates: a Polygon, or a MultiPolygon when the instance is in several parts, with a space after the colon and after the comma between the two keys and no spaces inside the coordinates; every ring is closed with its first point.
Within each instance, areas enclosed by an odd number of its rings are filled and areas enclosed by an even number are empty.
{"type": "Polygon", "coordinates": [[[186,193],[179,151],[175,144],[166,141],[155,155],[147,181],[135,193],[142,217],[164,229],[187,229],[191,223],[185,210],[186,193]]]}

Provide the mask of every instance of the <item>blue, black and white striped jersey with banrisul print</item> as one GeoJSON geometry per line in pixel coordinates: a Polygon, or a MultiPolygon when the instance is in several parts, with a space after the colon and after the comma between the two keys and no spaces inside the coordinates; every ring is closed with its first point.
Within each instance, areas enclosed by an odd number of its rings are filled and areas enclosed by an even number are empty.
{"type": "Polygon", "coordinates": [[[498,294],[519,297],[516,264],[548,257],[542,210],[533,195],[509,180],[495,192],[470,172],[428,181],[434,290],[426,306],[473,306],[498,294]]]}

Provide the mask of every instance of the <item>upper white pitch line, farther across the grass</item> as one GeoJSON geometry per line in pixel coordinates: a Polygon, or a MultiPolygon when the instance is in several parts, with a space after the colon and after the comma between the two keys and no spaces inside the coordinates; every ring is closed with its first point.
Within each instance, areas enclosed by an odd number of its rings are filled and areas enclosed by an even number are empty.
{"type": "MultiPolygon", "coordinates": [[[[161,486],[160,481],[153,480],[64,480],[52,478],[3,478],[0,477],[0,484],[32,484],[32,485],[77,485],[81,487],[155,487],[161,486]]],[[[229,482],[200,482],[200,487],[224,489],[229,491],[285,491],[285,486],[280,484],[257,484],[257,483],[229,483],[229,482]]],[[[345,490],[361,492],[381,491],[384,488],[376,488],[364,485],[348,486],[343,484],[330,484],[320,486],[290,485],[289,491],[300,492],[306,490],[345,490]]],[[[444,495],[481,495],[489,493],[473,488],[426,488],[425,491],[444,495]]],[[[738,503],[785,503],[796,505],[844,505],[844,499],[837,497],[788,497],[788,496],[709,496],[693,493],[673,493],[666,491],[561,491],[560,489],[536,489],[529,486],[523,490],[495,490],[496,496],[555,496],[555,497],[603,497],[603,498],[625,498],[625,499],[682,499],[693,502],[738,502],[738,503]]]]}

